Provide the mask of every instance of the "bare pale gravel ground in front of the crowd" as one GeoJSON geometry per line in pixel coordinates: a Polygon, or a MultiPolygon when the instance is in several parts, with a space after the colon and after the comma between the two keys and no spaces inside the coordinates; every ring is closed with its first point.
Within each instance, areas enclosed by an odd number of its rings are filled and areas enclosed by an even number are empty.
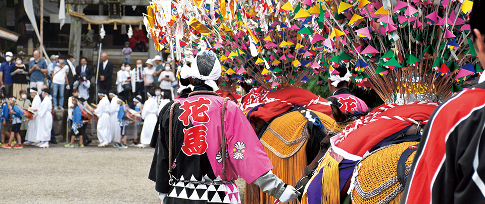
{"type": "MultiPolygon", "coordinates": [[[[0,203],[158,203],[153,149],[0,148],[0,203]]],[[[236,182],[244,192],[244,182],[236,182]]],[[[244,193],[241,193],[244,199],[244,193]]]]}

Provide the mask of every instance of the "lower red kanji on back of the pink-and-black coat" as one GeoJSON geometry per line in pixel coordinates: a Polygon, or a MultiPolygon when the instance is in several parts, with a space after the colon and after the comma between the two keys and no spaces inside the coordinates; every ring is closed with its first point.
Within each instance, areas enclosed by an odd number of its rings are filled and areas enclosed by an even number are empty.
{"type": "Polygon", "coordinates": [[[206,125],[196,125],[188,129],[183,129],[182,152],[187,156],[193,154],[202,155],[207,150],[207,127],[206,125]]]}

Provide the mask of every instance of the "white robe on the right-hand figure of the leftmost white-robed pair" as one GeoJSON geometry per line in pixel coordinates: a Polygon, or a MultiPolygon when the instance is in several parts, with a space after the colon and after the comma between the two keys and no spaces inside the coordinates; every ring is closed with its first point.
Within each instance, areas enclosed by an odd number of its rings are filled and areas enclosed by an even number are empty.
{"type": "Polygon", "coordinates": [[[36,141],[45,142],[51,141],[51,130],[52,130],[52,97],[51,95],[45,96],[45,98],[40,102],[40,107],[35,114],[37,119],[37,135],[35,136],[36,141]]]}

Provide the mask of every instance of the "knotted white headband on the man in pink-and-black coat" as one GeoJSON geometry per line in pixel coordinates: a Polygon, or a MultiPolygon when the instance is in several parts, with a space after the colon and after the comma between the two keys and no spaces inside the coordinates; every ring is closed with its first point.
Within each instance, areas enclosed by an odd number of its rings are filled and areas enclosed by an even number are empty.
{"type": "Polygon", "coordinates": [[[217,59],[217,56],[213,51],[204,50],[199,52],[196,56],[196,59],[192,63],[192,66],[190,67],[190,69],[187,69],[187,70],[188,70],[188,73],[187,73],[188,77],[204,80],[205,84],[212,87],[214,91],[219,90],[219,87],[217,87],[215,80],[218,80],[219,77],[221,77],[221,62],[219,61],[219,59],[217,59]],[[214,65],[212,66],[211,74],[209,74],[209,76],[203,76],[200,74],[199,67],[197,66],[197,57],[199,57],[199,54],[207,53],[207,52],[213,55],[216,58],[216,60],[214,61],[214,65]]]}

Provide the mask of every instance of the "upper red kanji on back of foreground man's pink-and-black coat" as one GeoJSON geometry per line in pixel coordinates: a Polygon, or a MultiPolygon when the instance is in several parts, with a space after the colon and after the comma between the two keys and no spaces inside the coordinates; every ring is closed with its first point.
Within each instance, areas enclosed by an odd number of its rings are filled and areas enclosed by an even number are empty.
{"type": "Polygon", "coordinates": [[[178,117],[178,119],[182,121],[183,125],[185,126],[187,126],[190,122],[189,116],[194,122],[209,122],[210,118],[209,115],[207,115],[207,111],[209,110],[210,104],[211,101],[209,99],[205,99],[204,97],[200,97],[198,100],[192,102],[184,101],[180,106],[183,113],[178,117]]]}

